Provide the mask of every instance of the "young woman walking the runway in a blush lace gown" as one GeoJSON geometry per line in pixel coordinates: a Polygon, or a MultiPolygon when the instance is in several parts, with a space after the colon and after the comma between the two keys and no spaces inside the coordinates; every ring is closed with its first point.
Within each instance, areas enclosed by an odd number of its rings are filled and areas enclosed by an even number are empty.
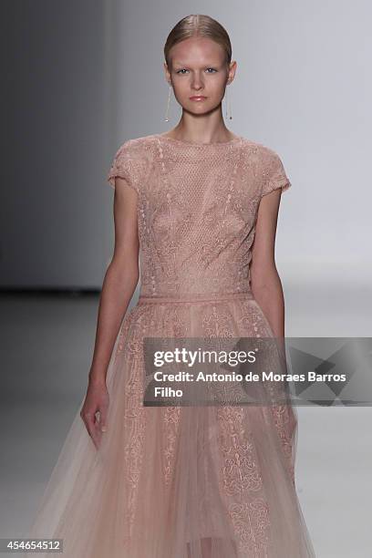
{"type": "Polygon", "coordinates": [[[294,408],[143,405],[144,337],[284,340],[282,161],[224,125],[236,62],[217,21],[184,17],[164,54],[181,120],[112,161],[115,250],[88,391],[31,536],[63,539],[68,558],[314,556],[294,486],[294,408]]]}

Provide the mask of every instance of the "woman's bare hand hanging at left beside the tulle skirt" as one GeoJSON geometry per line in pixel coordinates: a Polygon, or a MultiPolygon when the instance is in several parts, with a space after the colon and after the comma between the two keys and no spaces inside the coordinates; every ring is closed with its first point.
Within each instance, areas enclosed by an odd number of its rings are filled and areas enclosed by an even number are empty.
{"type": "Polygon", "coordinates": [[[101,437],[104,436],[104,432],[107,430],[108,409],[109,392],[106,383],[95,383],[89,380],[87,395],[80,411],[80,417],[83,419],[96,449],[99,448],[101,437]]]}

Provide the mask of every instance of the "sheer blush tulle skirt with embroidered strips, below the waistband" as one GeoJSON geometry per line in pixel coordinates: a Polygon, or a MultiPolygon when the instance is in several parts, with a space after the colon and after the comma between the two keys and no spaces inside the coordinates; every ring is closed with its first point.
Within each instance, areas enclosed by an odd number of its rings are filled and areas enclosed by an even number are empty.
{"type": "Polygon", "coordinates": [[[273,334],[249,293],[140,296],[109,363],[107,432],[96,449],[82,400],[28,536],[63,539],[67,558],[315,556],[295,491],[295,408],[143,406],[146,336],[273,334]]]}

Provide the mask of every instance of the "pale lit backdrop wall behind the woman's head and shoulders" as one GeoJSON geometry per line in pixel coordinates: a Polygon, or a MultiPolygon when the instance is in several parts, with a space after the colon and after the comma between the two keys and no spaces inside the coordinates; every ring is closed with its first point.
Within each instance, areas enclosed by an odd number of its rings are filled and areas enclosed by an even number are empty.
{"type": "Polygon", "coordinates": [[[184,15],[212,15],[229,32],[237,61],[226,125],[277,150],[293,183],[276,243],[284,277],[370,284],[370,3],[139,0],[108,9],[115,14],[114,56],[106,60],[115,78],[117,143],[176,124],[173,96],[171,122],[163,121],[163,44],[184,15]]]}

